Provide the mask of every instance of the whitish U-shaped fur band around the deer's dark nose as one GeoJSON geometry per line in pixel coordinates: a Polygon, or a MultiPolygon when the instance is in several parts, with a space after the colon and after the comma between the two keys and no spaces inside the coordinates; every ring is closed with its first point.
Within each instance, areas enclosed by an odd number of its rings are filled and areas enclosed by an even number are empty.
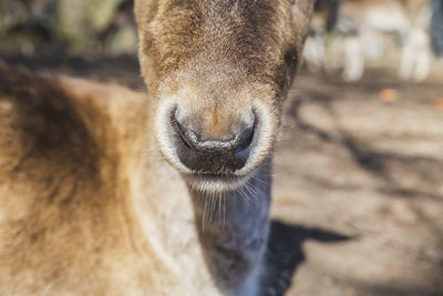
{"type": "Polygon", "coordinates": [[[253,105],[257,121],[249,154],[241,169],[236,171],[203,172],[186,166],[178,156],[177,145],[174,141],[177,132],[171,121],[171,114],[177,109],[178,98],[172,96],[167,101],[162,101],[155,116],[156,142],[163,159],[182,174],[190,188],[214,193],[235,191],[254,177],[255,172],[270,157],[275,142],[274,135],[277,133],[277,124],[274,124],[272,113],[269,112],[268,106],[258,101],[253,105]]]}

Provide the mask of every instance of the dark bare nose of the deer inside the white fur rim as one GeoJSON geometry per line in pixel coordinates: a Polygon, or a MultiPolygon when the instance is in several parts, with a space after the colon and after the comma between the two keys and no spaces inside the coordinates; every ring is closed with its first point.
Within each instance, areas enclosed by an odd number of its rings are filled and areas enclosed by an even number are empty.
{"type": "Polygon", "coordinates": [[[229,136],[205,140],[195,126],[176,118],[173,122],[177,131],[177,156],[192,171],[202,174],[230,174],[245,166],[254,140],[255,120],[249,124],[238,124],[236,132],[229,136]]]}

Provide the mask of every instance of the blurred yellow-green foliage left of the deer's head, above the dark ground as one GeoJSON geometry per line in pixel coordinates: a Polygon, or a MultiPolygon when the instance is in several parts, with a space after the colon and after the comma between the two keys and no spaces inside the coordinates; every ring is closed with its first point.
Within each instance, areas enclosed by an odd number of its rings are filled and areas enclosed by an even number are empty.
{"type": "Polygon", "coordinates": [[[2,52],[134,54],[131,0],[2,0],[2,52]]]}

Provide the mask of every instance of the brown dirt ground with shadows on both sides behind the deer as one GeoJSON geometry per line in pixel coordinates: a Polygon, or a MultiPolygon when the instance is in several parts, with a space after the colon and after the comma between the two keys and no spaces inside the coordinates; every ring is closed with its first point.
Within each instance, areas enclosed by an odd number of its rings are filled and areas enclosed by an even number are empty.
{"type": "MultiPolygon", "coordinates": [[[[144,89],[134,58],[3,58],[144,89]]],[[[299,73],[275,157],[267,295],[443,295],[440,78],[299,73]]]]}

